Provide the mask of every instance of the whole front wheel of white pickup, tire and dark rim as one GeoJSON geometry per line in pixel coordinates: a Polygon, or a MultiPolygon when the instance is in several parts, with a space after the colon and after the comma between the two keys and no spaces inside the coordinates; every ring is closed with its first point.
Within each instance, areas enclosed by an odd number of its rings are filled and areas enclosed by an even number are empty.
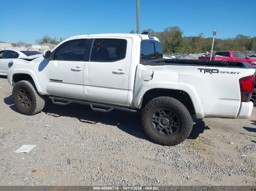
{"type": "Polygon", "coordinates": [[[33,81],[19,81],[12,89],[12,97],[15,106],[20,113],[25,115],[34,115],[42,111],[45,106],[45,100],[38,93],[33,81]]]}

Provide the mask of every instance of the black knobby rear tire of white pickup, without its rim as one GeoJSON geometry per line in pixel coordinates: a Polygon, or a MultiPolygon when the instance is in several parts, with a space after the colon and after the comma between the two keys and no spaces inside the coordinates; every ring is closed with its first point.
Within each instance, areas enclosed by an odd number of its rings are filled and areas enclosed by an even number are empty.
{"type": "Polygon", "coordinates": [[[141,124],[146,135],[153,142],[160,145],[174,146],[188,138],[193,127],[193,120],[188,109],[180,101],[172,97],[156,97],[143,108],[141,124]],[[156,110],[161,110],[161,108],[171,110],[179,121],[176,132],[171,135],[160,135],[154,128],[152,116],[156,110]]]}

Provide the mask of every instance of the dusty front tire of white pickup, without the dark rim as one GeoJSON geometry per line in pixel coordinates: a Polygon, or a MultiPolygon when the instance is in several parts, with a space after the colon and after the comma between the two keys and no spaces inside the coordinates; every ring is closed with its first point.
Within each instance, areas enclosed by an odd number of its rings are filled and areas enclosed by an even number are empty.
{"type": "Polygon", "coordinates": [[[31,80],[18,81],[12,89],[12,97],[15,106],[20,113],[24,115],[34,115],[39,113],[45,106],[44,97],[38,93],[34,82],[31,80]],[[18,94],[21,90],[26,91],[29,94],[31,104],[28,108],[23,107],[21,103],[19,103],[18,94]]]}

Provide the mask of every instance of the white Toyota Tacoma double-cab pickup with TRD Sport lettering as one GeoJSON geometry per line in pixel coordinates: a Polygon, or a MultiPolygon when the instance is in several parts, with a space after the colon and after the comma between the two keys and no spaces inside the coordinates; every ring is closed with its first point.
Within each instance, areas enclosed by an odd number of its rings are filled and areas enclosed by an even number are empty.
{"type": "Polygon", "coordinates": [[[43,58],[13,59],[8,82],[25,115],[39,113],[45,99],[92,110],[142,110],[147,136],[177,145],[197,118],[247,119],[255,69],[246,62],[163,59],[161,43],[146,34],[70,37],[43,58]]]}

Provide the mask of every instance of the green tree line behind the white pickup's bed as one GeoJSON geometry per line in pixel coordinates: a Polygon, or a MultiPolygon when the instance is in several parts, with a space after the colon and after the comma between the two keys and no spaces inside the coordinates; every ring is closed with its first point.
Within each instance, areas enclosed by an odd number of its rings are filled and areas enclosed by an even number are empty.
{"type": "MultiPolygon", "coordinates": [[[[155,32],[152,29],[148,34],[157,37],[163,48],[164,53],[206,53],[211,51],[212,38],[205,38],[203,33],[199,33],[196,37],[183,36],[183,31],[179,27],[167,27],[164,31],[155,32]]],[[[131,30],[130,33],[135,33],[131,30]]],[[[249,53],[256,52],[256,37],[244,36],[238,34],[234,38],[214,39],[214,51],[234,50],[249,53]]]]}

